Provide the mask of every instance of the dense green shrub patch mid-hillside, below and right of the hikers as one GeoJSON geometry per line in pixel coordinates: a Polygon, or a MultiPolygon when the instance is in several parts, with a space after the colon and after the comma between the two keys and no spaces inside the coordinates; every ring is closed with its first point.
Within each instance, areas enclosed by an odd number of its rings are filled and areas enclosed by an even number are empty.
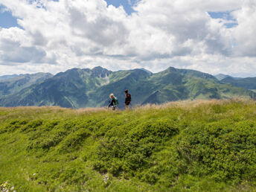
{"type": "Polygon", "coordinates": [[[157,120],[138,124],[126,138],[104,138],[97,147],[97,159],[104,161],[96,170],[109,170],[115,176],[122,171],[134,171],[147,167],[154,150],[160,144],[176,135],[179,129],[174,121],[157,120]]]}

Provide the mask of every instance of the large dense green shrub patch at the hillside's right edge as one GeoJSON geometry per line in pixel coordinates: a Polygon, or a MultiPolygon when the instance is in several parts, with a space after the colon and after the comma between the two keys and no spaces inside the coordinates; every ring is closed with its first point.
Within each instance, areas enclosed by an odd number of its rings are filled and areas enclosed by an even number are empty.
{"type": "Polygon", "coordinates": [[[256,122],[219,121],[189,127],[177,142],[188,173],[217,181],[255,179],[256,122]]]}

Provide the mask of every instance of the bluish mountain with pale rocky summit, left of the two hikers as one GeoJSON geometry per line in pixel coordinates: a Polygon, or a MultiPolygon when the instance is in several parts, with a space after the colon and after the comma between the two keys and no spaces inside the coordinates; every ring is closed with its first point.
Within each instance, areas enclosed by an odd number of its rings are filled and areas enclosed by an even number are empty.
{"type": "Polygon", "coordinates": [[[72,68],[4,97],[0,103],[6,103],[4,106],[85,107],[89,101],[86,93],[106,83],[110,73],[103,68],[72,68]]]}

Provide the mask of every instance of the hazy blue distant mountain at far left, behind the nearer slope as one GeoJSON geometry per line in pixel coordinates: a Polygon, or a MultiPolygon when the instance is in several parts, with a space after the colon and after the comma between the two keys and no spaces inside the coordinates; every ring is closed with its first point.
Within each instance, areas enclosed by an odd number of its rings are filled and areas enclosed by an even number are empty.
{"type": "Polygon", "coordinates": [[[53,77],[49,73],[37,73],[37,74],[20,74],[9,75],[2,80],[0,79],[0,97],[3,95],[15,94],[22,89],[25,89],[34,83],[40,83],[50,77],[53,77]]]}

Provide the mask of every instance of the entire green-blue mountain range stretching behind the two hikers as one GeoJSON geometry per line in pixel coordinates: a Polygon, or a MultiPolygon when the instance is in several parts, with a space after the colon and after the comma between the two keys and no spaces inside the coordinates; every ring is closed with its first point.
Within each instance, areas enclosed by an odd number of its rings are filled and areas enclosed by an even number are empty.
{"type": "Polygon", "coordinates": [[[226,78],[218,80],[211,74],[172,67],[156,74],[144,68],[127,71],[72,68],[56,75],[38,73],[0,78],[0,106],[106,106],[109,94],[114,93],[120,107],[124,107],[125,89],[132,95],[132,105],[188,99],[256,98],[255,92],[225,82],[226,78]]]}

